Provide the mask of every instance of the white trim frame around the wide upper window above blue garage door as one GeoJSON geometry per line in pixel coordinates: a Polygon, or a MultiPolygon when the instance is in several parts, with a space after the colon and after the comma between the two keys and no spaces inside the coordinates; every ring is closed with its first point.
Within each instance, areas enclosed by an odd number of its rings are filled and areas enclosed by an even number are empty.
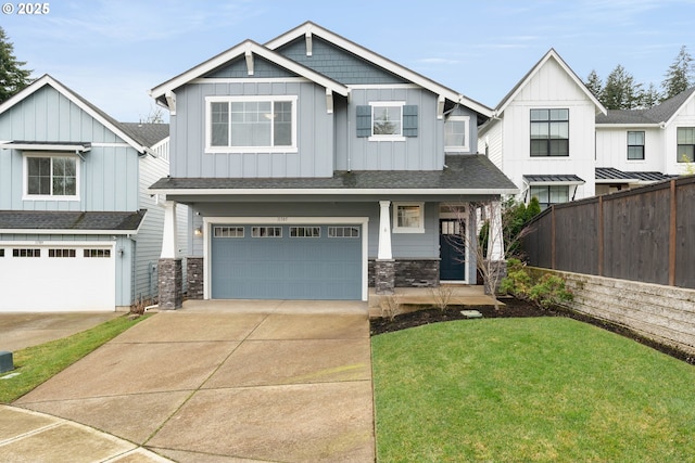
{"type": "Polygon", "coordinates": [[[205,97],[205,153],[296,153],[296,95],[245,95],[245,97],[205,97]],[[290,146],[213,146],[212,145],[212,104],[244,101],[292,103],[292,143],[290,146]]]}

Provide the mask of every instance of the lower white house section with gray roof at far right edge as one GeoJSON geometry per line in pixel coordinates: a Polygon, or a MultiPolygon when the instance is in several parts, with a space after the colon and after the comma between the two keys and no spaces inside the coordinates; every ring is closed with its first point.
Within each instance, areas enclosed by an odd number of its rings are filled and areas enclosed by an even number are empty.
{"type": "Polygon", "coordinates": [[[695,173],[695,87],[648,110],[596,117],[596,194],[695,173]]]}

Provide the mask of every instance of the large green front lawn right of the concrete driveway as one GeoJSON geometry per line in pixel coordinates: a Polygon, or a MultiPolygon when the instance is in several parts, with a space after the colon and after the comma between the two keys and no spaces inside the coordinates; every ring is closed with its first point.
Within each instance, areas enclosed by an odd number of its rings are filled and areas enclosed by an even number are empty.
{"type": "Polygon", "coordinates": [[[566,318],[372,338],[379,462],[695,461],[695,368],[566,318]]]}

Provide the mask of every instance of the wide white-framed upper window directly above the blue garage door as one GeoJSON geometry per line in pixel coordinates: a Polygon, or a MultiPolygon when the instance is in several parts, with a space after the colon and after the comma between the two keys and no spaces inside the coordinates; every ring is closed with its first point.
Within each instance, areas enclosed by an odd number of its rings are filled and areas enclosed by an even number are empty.
{"type": "Polygon", "coordinates": [[[206,103],[206,151],[296,151],[296,97],[208,97],[206,103]]]}

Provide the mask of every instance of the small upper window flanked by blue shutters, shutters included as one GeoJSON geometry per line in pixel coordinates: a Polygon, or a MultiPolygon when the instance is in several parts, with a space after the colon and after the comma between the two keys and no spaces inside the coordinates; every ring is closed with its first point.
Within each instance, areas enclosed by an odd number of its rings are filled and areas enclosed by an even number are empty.
{"type": "Polygon", "coordinates": [[[378,101],[357,106],[357,137],[370,141],[404,141],[417,137],[417,106],[402,101],[378,101]]]}

